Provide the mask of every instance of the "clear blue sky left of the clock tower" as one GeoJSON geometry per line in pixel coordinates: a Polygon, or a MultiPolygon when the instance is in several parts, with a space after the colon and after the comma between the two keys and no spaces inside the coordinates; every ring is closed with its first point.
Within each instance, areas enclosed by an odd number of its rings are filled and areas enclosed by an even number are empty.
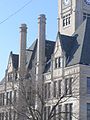
{"type": "Polygon", "coordinates": [[[5,75],[10,52],[19,54],[20,25],[27,24],[28,48],[38,37],[38,16],[45,14],[46,39],[56,40],[57,9],[58,0],[0,0],[0,80],[5,75]]]}

